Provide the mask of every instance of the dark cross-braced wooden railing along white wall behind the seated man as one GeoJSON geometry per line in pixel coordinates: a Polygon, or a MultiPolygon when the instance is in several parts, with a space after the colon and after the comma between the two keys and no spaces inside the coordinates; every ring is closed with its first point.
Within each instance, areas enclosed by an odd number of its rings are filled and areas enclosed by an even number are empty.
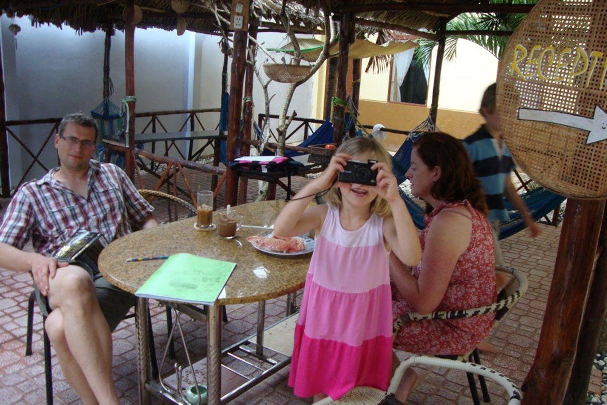
{"type": "MultiPolygon", "coordinates": [[[[205,126],[202,124],[202,121],[198,117],[198,114],[212,113],[212,112],[219,113],[219,112],[221,112],[221,109],[214,108],[214,109],[192,109],[192,110],[168,110],[168,111],[141,112],[141,113],[136,113],[135,118],[146,118],[146,117],[150,118],[150,120],[147,122],[147,124],[143,128],[143,130],[141,130],[141,133],[145,133],[148,129],[151,129],[151,132],[155,133],[158,130],[158,126],[162,129],[162,132],[169,132],[166,129],[166,127],[164,126],[163,122],[161,122],[160,116],[177,115],[177,114],[187,114],[185,121],[183,122],[183,124],[181,124],[181,127],[180,127],[180,129],[178,129],[177,132],[185,129],[185,127],[188,124],[189,124],[189,129],[194,130],[196,122],[198,122],[198,125],[200,125],[200,127],[202,127],[202,130],[205,130],[205,126]]],[[[24,170],[23,174],[21,175],[21,179],[19,179],[19,182],[17,183],[17,185],[15,187],[12,187],[13,190],[18,189],[19,186],[21,186],[21,184],[25,181],[25,178],[27,178],[27,175],[29,174],[29,172],[32,170],[32,168],[36,164],[38,164],[38,166],[41,167],[46,172],[49,171],[49,168],[46,167],[40,161],[40,155],[42,154],[42,152],[44,152],[44,149],[46,148],[47,144],[49,144],[49,141],[52,138],[52,136],[55,135],[55,133],[57,132],[58,127],[59,127],[59,122],[61,122],[61,118],[22,119],[22,120],[6,121],[5,130],[6,130],[7,135],[12,136],[12,138],[15,139],[15,141],[19,144],[19,146],[21,146],[25,150],[25,152],[27,152],[32,157],[32,161],[29,163],[29,166],[27,166],[27,169],[24,170]],[[52,124],[52,127],[51,127],[50,131],[46,134],[46,137],[44,138],[44,142],[42,142],[42,146],[39,147],[39,149],[36,152],[33,152],[33,150],[30,149],[30,147],[27,146],[23,141],[21,141],[21,139],[19,139],[19,136],[15,134],[14,127],[36,125],[36,124],[52,124]]],[[[219,127],[219,119],[218,119],[217,126],[215,126],[215,129],[217,129],[217,127],[219,127]]],[[[9,165],[10,165],[10,161],[9,161],[9,165]]],[[[10,172],[8,172],[8,170],[6,172],[4,170],[2,170],[2,172],[0,173],[0,179],[2,182],[8,181],[9,173],[10,172]]],[[[5,187],[5,188],[7,189],[7,187],[5,187]]],[[[3,196],[8,197],[10,195],[3,195],[3,196]]]]}

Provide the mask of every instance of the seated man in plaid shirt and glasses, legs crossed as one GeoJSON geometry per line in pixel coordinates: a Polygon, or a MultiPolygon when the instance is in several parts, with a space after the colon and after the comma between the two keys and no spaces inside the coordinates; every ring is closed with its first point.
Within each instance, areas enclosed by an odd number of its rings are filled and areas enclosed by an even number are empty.
{"type": "Polygon", "coordinates": [[[103,235],[103,244],[157,226],[154,208],[113,164],[91,160],[97,124],[81,113],[64,116],[55,135],[60,166],[13,196],[0,225],[0,266],[32,272],[48,299],[44,327],[66,380],[84,404],[118,404],[112,378],[112,336],[134,305],[95,263],[58,263],[52,257],[78,229],[103,235]],[[32,239],[32,252],[24,252],[32,239]]]}

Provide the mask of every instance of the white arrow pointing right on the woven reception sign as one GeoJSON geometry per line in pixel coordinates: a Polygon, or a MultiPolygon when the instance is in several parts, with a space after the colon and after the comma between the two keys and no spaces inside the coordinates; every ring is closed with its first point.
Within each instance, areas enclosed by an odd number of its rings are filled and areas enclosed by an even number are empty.
{"type": "Polygon", "coordinates": [[[518,119],[523,121],[540,121],[549,124],[563,125],[588,131],[586,145],[607,139],[607,112],[597,104],[594,116],[585,116],[535,109],[518,109],[518,119]]]}

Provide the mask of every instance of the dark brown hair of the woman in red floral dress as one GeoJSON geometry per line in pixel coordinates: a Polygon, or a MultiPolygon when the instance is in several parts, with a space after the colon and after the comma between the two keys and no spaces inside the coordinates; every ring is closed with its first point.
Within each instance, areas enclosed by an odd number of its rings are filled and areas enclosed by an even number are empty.
{"type": "MultiPolygon", "coordinates": [[[[472,160],[459,139],[444,132],[426,132],[413,144],[419,157],[432,169],[441,168],[441,177],[434,183],[430,194],[441,201],[467,199],[472,207],[485,216],[489,212],[481,182],[476,178],[472,160]]],[[[433,207],[426,204],[426,213],[433,207]]]]}

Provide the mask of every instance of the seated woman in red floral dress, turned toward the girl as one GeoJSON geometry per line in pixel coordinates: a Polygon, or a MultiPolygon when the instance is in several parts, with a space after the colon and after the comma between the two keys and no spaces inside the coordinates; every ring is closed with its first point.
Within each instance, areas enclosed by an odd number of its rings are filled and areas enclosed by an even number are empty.
{"type": "MultiPolygon", "coordinates": [[[[406,176],[412,194],[427,203],[426,228],[420,236],[422,259],[413,273],[391,257],[393,317],[494,303],[495,258],[487,204],[461,141],[446,133],[422,135],[406,176]]],[[[411,353],[461,355],[489,335],[493,317],[489,313],[405,323],[393,343],[411,353]]],[[[407,371],[396,392],[400,401],[415,385],[415,372],[407,371]]]]}

